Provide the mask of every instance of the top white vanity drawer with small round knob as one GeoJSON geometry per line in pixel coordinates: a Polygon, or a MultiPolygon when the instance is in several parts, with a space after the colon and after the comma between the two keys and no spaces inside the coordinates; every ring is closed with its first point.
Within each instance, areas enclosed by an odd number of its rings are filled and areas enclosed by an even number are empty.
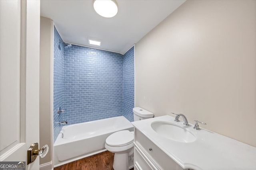
{"type": "Polygon", "coordinates": [[[156,163],[161,170],[184,170],[152,141],[135,129],[135,143],[156,163]]]}

